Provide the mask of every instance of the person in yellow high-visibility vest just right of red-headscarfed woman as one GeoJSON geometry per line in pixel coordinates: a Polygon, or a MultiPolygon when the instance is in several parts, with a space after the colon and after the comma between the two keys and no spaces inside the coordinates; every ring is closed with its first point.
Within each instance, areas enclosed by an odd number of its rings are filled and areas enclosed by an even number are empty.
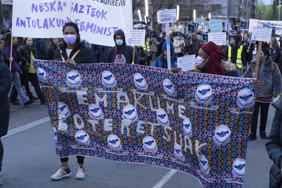
{"type": "Polygon", "coordinates": [[[237,66],[237,74],[239,77],[242,76],[242,66],[243,69],[247,69],[247,62],[245,58],[245,52],[243,50],[243,45],[241,45],[240,37],[233,35],[230,37],[230,43],[225,49],[225,55],[227,57],[224,60],[231,61],[237,66]]]}

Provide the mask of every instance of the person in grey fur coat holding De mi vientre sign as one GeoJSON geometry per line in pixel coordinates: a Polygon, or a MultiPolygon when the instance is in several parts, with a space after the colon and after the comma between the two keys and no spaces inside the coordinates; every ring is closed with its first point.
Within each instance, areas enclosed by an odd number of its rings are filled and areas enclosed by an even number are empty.
{"type": "Polygon", "coordinates": [[[249,139],[256,139],[258,124],[258,112],[260,110],[260,127],[259,134],[262,139],[266,139],[266,122],[268,117],[268,108],[272,102],[273,96],[282,94],[282,78],[280,70],[276,63],[273,63],[269,57],[269,49],[262,48],[259,58],[258,73],[255,72],[256,59],[251,61],[251,65],[246,70],[243,77],[259,78],[261,86],[257,90],[255,107],[252,115],[251,133],[249,139]]]}

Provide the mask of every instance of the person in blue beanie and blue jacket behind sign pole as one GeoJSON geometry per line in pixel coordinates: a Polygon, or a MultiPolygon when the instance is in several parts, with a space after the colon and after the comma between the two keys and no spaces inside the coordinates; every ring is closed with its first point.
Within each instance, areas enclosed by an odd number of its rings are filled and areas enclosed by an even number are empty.
{"type": "MultiPolygon", "coordinates": [[[[169,41],[170,43],[170,59],[171,59],[171,68],[176,67],[176,62],[177,62],[177,57],[178,55],[174,52],[174,47],[172,44],[172,41],[169,41]]],[[[163,46],[162,46],[162,53],[159,57],[157,57],[155,61],[155,67],[159,68],[168,68],[168,54],[167,54],[167,42],[165,41],[163,46]]]]}

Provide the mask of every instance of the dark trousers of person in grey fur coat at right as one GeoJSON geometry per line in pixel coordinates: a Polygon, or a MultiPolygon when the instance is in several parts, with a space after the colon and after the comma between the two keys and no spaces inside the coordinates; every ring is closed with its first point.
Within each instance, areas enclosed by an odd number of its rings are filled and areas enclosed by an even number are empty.
{"type": "Polygon", "coordinates": [[[258,113],[260,108],[260,126],[259,132],[265,132],[266,122],[268,117],[268,109],[270,103],[255,102],[254,112],[252,115],[251,133],[256,133],[258,126],[258,113]]]}

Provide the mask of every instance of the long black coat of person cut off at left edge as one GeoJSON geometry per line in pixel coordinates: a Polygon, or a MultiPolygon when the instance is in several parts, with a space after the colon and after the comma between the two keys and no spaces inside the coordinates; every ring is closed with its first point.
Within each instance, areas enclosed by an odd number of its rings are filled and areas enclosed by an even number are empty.
{"type": "Polygon", "coordinates": [[[0,56],[0,137],[8,132],[10,104],[8,93],[11,89],[12,77],[9,67],[4,63],[4,58],[0,56]]]}

